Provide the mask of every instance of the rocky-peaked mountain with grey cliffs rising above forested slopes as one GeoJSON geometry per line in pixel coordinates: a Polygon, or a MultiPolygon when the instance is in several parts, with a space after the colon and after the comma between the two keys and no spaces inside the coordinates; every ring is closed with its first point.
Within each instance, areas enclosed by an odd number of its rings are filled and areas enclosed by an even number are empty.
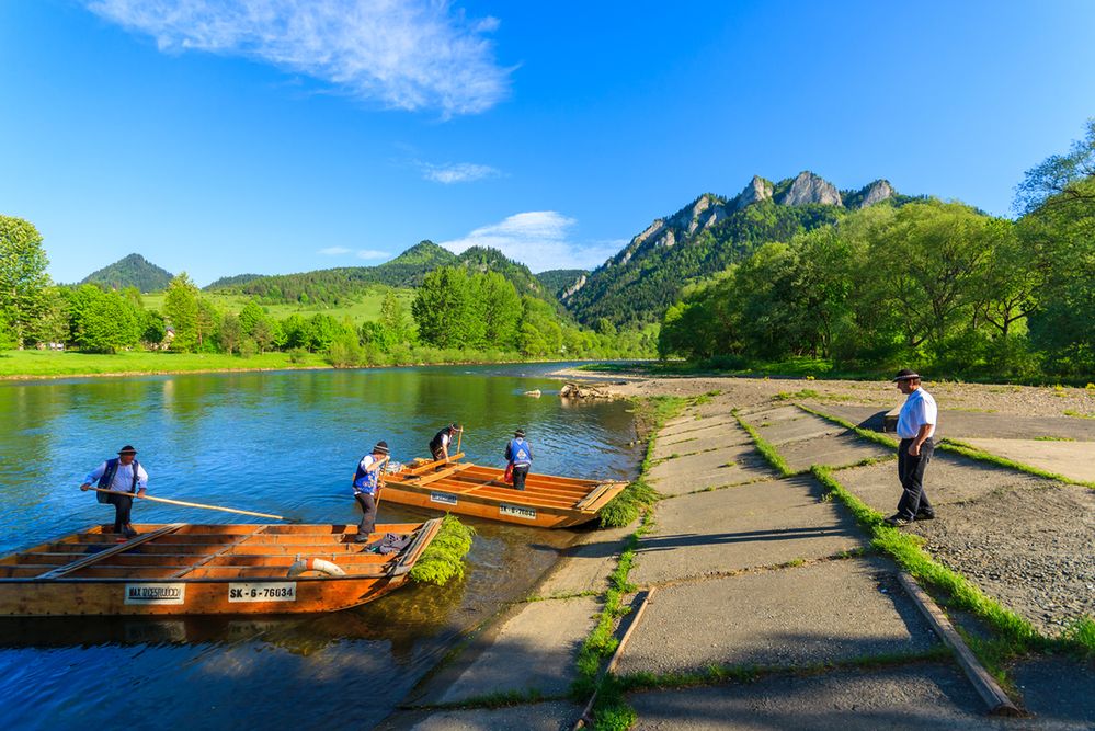
{"type": "Polygon", "coordinates": [[[754,176],[737,196],[705,193],[655,219],[560,298],[588,325],[601,318],[617,327],[654,321],[684,285],[742,261],[764,243],[832,224],[848,207],[909,199],[885,180],[842,193],[810,171],[777,183],[754,176]]]}

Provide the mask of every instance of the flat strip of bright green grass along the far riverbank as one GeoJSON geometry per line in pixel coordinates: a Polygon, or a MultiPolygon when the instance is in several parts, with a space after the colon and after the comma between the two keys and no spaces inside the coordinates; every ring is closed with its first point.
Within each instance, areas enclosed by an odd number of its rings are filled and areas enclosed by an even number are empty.
{"type": "Polygon", "coordinates": [[[318,353],[304,353],[298,357],[300,363],[293,363],[289,353],[264,353],[243,358],[224,353],[5,351],[0,353],[0,378],[330,367],[318,353]]]}

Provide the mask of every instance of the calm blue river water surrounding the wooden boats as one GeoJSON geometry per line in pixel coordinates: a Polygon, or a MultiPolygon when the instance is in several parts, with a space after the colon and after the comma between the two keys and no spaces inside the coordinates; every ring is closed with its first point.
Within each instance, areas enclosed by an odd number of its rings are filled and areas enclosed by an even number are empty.
{"type": "MultiPolygon", "coordinates": [[[[0,555],[95,523],[113,509],[77,487],[127,443],[149,494],[308,523],[356,523],[349,488],[378,439],[426,456],[465,424],[468,459],[503,465],[522,426],[534,469],[630,478],[639,459],[623,402],[568,406],[554,366],[148,376],[0,385],[0,555]],[[539,388],[544,398],[523,392],[539,388]]],[[[380,522],[427,512],[381,504],[380,522]]],[[[246,523],[138,502],[137,523],[246,523]]],[[[461,632],[524,596],[574,534],[469,521],[469,572],[373,604],[297,618],[0,620],[0,718],[16,729],[368,728],[461,632]]]]}

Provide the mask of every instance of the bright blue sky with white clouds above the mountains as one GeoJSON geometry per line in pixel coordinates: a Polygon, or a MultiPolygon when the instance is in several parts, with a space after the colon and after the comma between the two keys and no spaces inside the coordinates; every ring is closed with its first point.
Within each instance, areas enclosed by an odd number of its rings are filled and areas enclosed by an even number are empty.
{"type": "Polygon", "coordinates": [[[72,282],[422,239],[593,267],[753,174],[1008,215],[1095,115],[1095,3],[0,0],[0,214],[72,282]]]}

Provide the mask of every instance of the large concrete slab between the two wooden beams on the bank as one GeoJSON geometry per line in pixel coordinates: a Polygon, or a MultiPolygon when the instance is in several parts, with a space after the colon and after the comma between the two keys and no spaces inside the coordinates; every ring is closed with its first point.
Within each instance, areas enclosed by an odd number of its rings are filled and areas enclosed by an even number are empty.
{"type": "Polygon", "coordinates": [[[794,666],[933,647],[896,572],[883,559],[846,559],[659,589],[618,672],[794,666]]]}

